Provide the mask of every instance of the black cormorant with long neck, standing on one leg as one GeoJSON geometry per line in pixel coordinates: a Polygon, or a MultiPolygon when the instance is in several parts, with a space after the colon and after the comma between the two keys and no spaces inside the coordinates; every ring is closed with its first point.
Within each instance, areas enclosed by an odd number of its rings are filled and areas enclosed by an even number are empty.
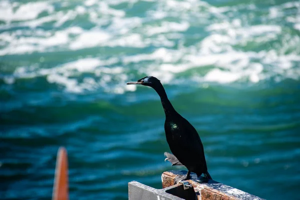
{"type": "Polygon", "coordinates": [[[156,77],[146,76],[136,82],[128,82],[127,84],[142,84],[150,86],[155,89],[160,96],[161,104],[165,113],[164,130],[166,141],[171,152],[174,154],[174,156],[167,154],[166,159],[171,161],[173,165],[180,165],[182,163],[182,165],[188,169],[184,179],[189,178],[190,172],[195,172],[197,176],[203,173],[205,177],[212,179],[207,171],[203,144],[196,129],[178,112],[176,112],[167,98],[160,81],[156,77]]]}

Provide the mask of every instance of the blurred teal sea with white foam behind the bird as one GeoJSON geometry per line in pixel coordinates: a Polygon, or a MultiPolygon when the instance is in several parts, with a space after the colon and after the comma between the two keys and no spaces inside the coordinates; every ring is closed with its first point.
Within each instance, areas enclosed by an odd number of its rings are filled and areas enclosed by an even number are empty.
{"type": "Polygon", "coordinates": [[[50,199],[60,145],[71,199],[161,188],[153,75],[215,180],[299,199],[299,35],[292,0],[0,0],[0,198],[50,199]]]}

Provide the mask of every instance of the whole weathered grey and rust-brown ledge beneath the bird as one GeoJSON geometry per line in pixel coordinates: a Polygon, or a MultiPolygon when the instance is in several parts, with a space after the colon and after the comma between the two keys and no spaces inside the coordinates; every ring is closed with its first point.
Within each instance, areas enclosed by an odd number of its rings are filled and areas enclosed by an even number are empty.
{"type": "Polygon", "coordinates": [[[207,181],[206,178],[201,176],[198,178],[194,173],[191,174],[190,180],[173,184],[178,175],[184,176],[185,174],[186,171],[171,170],[163,172],[161,174],[162,189],[155,189],[139,182],[131,181],[128,183],[128,198],[129,200],[262,200],[262,198],[214,180],[207,181]]]}

